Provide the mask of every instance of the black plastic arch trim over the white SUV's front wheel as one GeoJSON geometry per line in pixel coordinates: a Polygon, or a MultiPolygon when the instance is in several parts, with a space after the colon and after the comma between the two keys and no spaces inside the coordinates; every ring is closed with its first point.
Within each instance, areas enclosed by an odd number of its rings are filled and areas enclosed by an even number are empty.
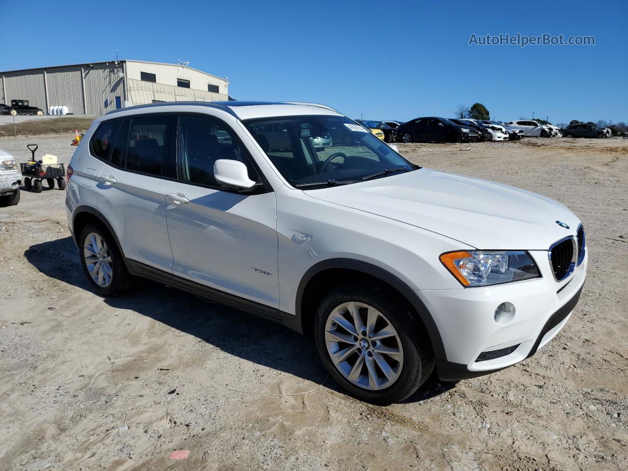
{"type": "Polygon", "coordinates": [[[403,280],[399,279],[398,276],[395,276],[384,268],[365,261],[350,258],[333,258],[320,261],[317,264],[311,266],[301,278],[299,286],[296,290],[295,312],[296,319],[298,319],[299,322],[303,322],[303,310],[301,308],[301,305],[303,303],[303,295],[308,286],[308,283],[318,273],[321,273],[322,271],[328,269],[349,269],[353,271],[359,271],[369,276],[373,276],[374,278],[380,279],[382,282],[389,284],[389,286],[393,287],[394,290],[401,293],[404,299],[408,301],[411,306],[413,306],[416,313],[418,313],[421,322],[423,322],[423,325],[427,330],[428,336],[430,337],[430,342],[435,357],[437,359],[447,360],[445,345],[443,345],[443,340],[440,336],[440,333],[438,332],[436,322],[434,321],[434,318],[432,317],[428,308],[426,308],[425,304],[416,295],[414,290],[410,288],[408,284],[406,284],[403,280]]]}

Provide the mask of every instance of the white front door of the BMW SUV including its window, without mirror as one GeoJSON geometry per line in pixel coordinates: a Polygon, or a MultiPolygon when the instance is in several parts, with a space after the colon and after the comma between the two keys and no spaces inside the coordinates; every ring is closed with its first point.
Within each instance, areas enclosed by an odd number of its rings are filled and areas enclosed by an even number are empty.
{"type": "Polygon", "coordinates": [[[236,133],[219,119],[181,115],[177,179],[166,191],[173,274],[277,308],[275,193],[238,193],[214,178],[219,159],[239,160],[259,180],[236,133]],[[227,138],[227,136],[229,136],[227,138]]]}

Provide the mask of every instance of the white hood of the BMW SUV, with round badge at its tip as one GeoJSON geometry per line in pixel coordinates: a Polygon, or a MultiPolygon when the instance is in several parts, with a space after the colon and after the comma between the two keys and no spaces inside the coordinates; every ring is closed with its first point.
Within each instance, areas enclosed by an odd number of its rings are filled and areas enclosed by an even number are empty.
{"type": "Polygon", "coordinates": [[[477,249],[547,250],[580,224],[568,208],[536,193],[428,168],[305,193],[477,249]]]}

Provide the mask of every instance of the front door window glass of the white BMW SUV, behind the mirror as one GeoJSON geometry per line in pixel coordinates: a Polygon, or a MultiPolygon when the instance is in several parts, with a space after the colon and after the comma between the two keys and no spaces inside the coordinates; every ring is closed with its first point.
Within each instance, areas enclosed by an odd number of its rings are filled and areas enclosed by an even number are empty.
{"type": "Polygon", "coordinates": [[[180,180],[220,187],[214,178],[214,163],[220,159],[246,164],[249,178],[259,176],[240,139],[225,124],[211,116],[182,115],[178,131],[178,175],[180,180]]]}

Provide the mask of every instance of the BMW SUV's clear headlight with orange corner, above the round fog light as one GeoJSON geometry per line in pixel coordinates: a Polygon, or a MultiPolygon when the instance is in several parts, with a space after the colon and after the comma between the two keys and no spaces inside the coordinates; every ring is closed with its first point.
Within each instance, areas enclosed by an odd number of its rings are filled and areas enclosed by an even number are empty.
{"type": "Polygon", "coordinates": [[[528,252],[447,252],[440,261],[462,286],[489,286],[541,276],[528,252]]]}

